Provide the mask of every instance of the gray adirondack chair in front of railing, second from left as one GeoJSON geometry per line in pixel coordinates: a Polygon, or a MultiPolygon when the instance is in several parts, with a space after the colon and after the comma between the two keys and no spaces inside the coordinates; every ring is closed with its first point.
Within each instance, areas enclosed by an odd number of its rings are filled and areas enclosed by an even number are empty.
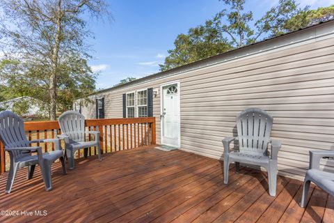
{"type": "Polygon", "coordinates": [[[85,116],[79,112],[67,111],[59,116],[58,121],[62,133],[61,135],[58,135],[58,137],[65,140],[65,149],[70,169],[74,169],[75,151],[81,148],[84,148],[84,156],[87,157],[88,148],[97,146],[98,158],[99,160],[102,160],[99,142],[100,132],[85,131],[85,116]],[[94,141],[85,141],[85,134],[93,134],[94,141]]]}

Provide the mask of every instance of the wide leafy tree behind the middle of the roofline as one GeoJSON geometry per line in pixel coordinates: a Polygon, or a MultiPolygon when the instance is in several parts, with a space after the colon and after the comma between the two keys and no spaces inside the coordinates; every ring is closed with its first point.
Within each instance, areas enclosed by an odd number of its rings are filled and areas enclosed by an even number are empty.
{"type": "Polygon", "coordinates": [[[245,0],[221,0],[223,9],[205,26],[189,29],[175,40],[175,48],[168,51],[160,70],[168,70],[186,63],[221,54],[235,47],[255,43],[260,38],[274,36],[283,25],[301,11],[294,0],[280,0],[264,16],[255,20],[251,11],[244,10],[245,0]]]}

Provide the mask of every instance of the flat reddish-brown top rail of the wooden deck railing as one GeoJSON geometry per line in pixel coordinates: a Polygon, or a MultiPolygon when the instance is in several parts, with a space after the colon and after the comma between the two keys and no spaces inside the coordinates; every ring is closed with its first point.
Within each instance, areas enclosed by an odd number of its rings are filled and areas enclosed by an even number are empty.
{"type": "MultiPolygon", "coordinates": [[[[121,124],[134,124],[134,123],[154,123],[154,117],[145,118],[102,118],[102,119],[86,119],[86,126],[97,125],[121,125],[121,124]]],[[[58,129],[58,121],[28,121],[24,123],[24,130],[52,130],[58,129]]]]}

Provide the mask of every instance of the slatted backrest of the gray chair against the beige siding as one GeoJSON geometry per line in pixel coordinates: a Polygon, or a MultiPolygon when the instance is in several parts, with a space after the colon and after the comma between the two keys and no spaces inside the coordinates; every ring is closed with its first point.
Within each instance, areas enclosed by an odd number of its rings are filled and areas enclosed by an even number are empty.
{"type": "Polygon", "coordinates": [[[249,108],[237,116],[241,152],[267,155],[273,117],[258,108],[249,108]]]}

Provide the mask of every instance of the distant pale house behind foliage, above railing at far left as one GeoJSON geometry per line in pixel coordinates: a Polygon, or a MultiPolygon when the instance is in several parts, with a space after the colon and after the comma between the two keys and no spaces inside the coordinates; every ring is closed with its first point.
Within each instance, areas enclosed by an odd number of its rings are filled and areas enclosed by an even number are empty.
{"type": "Polygon", "coordinates": [[[29,118],[48,116],[48,112],[45,110],[45,107],[47,107],[47,103],[28,96],[13,98],[11,100],[0,102],[1,110],[9,110],[21,113],[19,114],[20,116],[29,118]],[[15,106],[19,107],[17,109],[19,109],[20,112],[15,111],[15,106]]]}

